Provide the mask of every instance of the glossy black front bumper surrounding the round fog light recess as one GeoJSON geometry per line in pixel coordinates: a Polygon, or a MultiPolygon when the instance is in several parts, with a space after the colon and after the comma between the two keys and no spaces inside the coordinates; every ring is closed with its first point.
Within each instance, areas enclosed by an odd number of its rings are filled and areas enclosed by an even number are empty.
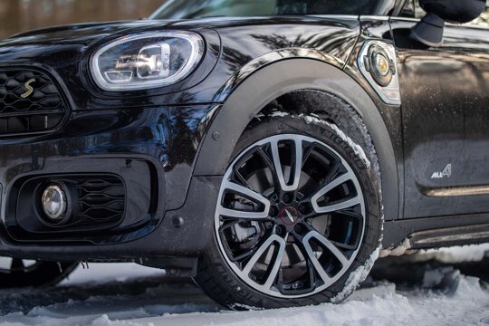
{"type": "Polygon", "coordinates": [[[78,110],[53,133],[0,139],[0,255],[92,261],[202,253],[212,235],[220,177],[192,177],[192,171],[216,109],[78,110]],[[120,223],[89,231],[75,225],[70,232],[19,223],[35,200],[21,191],[29,180],[86,175],[123,180],[120,223]]]}

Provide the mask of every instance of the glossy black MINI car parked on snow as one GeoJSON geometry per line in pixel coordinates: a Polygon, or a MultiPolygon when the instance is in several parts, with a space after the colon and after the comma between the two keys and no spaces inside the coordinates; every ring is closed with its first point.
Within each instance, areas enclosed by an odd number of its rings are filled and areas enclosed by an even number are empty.
{"type": "Polygon", "coordinates": [[[488,20],[484,0],[170,0],[2,41],[0,286],[136,262],[231,309],[300,306],[379,254],[489,241],[488,20]]]}

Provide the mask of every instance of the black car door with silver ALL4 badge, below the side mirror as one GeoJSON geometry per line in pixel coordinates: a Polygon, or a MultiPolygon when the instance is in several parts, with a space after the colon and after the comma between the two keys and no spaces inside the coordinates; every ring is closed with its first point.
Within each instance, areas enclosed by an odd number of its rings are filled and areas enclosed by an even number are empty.
{"type": "Polygon", "coordinates": [[[489,211],[489,30],[447,24],[441,47],[393,19],[405,151],[405,218],[489,211]],[[478,187],[482,189],[482,187],[478,187]]]}

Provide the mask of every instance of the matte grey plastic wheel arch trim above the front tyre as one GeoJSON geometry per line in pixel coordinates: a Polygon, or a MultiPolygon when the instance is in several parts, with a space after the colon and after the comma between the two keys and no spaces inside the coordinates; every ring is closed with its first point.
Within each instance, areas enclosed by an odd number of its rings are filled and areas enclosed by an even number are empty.
{"type": "MultiPolygon", "coordinates": [[[[314,101],[331,94],[356,110],[369,131],[379,158],[384,214],[387,220],[398,216],[398,168],[387,126],[367,91],[340,67],[317,59],[286,59],[249,73],[216,111],[198,154],[195,176],[222,176],[246,127],[267,104],[297,91],[309,92],[314,101]],[[315,94],[312,94],[315,93],[315,94]]],[[[304,111],[302,106],[298,113],[304,111]]]]}

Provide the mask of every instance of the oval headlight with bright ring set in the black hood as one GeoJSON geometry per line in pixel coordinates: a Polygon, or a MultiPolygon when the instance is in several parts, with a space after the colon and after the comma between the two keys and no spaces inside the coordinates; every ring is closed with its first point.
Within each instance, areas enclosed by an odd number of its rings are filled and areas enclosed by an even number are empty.
{"type": "Polygon", "coordinates": [[[204,41],[195,33],[140,34],[102,47],[91,58],[91,73],[106,91],[157,88],[186,78],[203,53],[204,41]]]}

